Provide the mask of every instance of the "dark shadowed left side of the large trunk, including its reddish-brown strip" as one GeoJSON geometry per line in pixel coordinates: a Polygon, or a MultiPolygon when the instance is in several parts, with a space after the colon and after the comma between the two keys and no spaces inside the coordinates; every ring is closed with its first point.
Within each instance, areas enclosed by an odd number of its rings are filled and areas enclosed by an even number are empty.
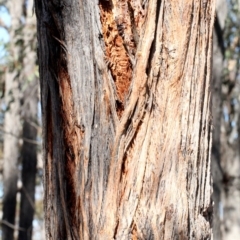
{"type": "MultiPolygon", "coordinates": [[[[47,61],[43,60],[42,84],[43,111],[46,116],[46,152],[45,152],[45,213],[49,223],[53,212],[58,212],[61,220],[57,220],[56,232],[48,232],[49,239],[77,238],[78,222],[75,215],[77,196],[75,186],[75,170],[81,147],[84,130],[77,125],[74,112],[71,81],[67,67],[67,48],[62,22],[62,6],[48,2],[44,9],[49,21],[43,22],[41,31],[49,38],[45,42],[47,61]],[[43,71],[45,73],[43,73],[43,71]],[[45,89],[44,89],[45,88],[45,89]],[[47,96],[47,102],[44,100],[47,96]],[[55,197],[57,198],[55,199],[55,197]],[[60,208],[59,208],[60,204],[60,208]],[[75,227],[71,228],[70,226],[75,227]],[[60,235],[59,235],[60,234],[60,235]]],[[[39,14],[39,13],[38,13],[39,14]]],[[[56,224],[56,222],[55,222],[56,224]]],[[[52,225],[47,224],[51,229],[52,225]]]]}

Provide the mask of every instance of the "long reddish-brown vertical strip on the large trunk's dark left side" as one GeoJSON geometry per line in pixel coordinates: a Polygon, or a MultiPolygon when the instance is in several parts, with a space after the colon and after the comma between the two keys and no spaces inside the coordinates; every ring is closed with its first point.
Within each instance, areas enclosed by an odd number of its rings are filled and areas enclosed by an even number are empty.
{"type": "MultiPolygon", "coordinates": [[[[81,147],[81,141],[84,137],[84,129],[77,126],[77,121],[74,113],[72,88],[70,83],[70,77],[67,69],[63,67],[59,71],[59,87],[61,95],[61,117],[63,125],[63,134],[65,142],[65,177],[66,177],[66,204],[68,207],[69,217],[71,218],[71,224],[78,229],[79,221],[77,220],[76,209],[77,194],[76,194],[76,179],[75,170],[79,161],[79,152],[81,147]]],[[[78,209],[79,212],[81,211],[78,209]]],[[[73,229],[73,232],[77,230],[73,229]]]]}

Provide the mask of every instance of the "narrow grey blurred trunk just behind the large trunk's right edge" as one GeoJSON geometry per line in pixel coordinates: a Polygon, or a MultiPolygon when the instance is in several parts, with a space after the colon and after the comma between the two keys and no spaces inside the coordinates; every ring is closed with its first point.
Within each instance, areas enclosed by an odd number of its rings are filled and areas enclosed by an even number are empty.
{"type": "Polygon", "coordinates": [[[222,239],[222,193],[223,171],[221,168],[221,118],[222,118],[222,74],[224,42],[223,30],[227,16],[225,0],[216,1],[216,19],[213,35],[213,81],[212,81],[212,115],[213,115],[213,147],[212,147],[212,176],[213,176],[213,238],[222,239]]]}

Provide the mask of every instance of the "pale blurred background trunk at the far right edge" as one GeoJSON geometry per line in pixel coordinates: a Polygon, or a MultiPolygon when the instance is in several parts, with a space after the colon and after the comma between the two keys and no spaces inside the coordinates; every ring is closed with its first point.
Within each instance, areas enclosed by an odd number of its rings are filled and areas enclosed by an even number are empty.
{"type": "MultiPolygon", "coordinates": [[[[236,79],[230,79],[225,99],[225,107],[228,108],[228,119],[222,123],[221,136],[221,164],[224,173],[223,178],[223,240],[238,239],[240,236],[240,150],[239,139],[236,134],[240,133],[240,109],[238,105],[233,106],[233,99],[239,97],[240,88],[236,79]],[[235,85],[235,86],[234,86],[235,85]],[[237,95],[235,95],[237,93],[237,95]],[[234,96],[235,95],[235,96],[234,96]],[[238,126],[231,126],[236,120],[238,126]]],[[[226,114],[226,113],[225,113],[226,114]]],[[[239,137],[238,137],[239,138],[239,137]]]]}

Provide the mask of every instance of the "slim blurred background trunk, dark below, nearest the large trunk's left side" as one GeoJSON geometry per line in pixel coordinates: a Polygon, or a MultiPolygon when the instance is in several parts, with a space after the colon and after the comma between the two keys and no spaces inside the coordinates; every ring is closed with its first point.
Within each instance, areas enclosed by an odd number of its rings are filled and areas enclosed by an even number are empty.
{"type": "Polygon", "coordinates": [[[19,226],[26,231],[19,231],[19,240],[32,238],[32,221],[34,217],[34,199],[37,168],[37,104],[38,84],[36,71],[36,19],[32,14],[33,1],[26,5],[26,21],[23,30],[24,59],[22,77],[27,89],[23,98],[23,146],[22,146],[22,191],[19,226]],[[31,81],[29,83],[29,81],[31,81]]]}

